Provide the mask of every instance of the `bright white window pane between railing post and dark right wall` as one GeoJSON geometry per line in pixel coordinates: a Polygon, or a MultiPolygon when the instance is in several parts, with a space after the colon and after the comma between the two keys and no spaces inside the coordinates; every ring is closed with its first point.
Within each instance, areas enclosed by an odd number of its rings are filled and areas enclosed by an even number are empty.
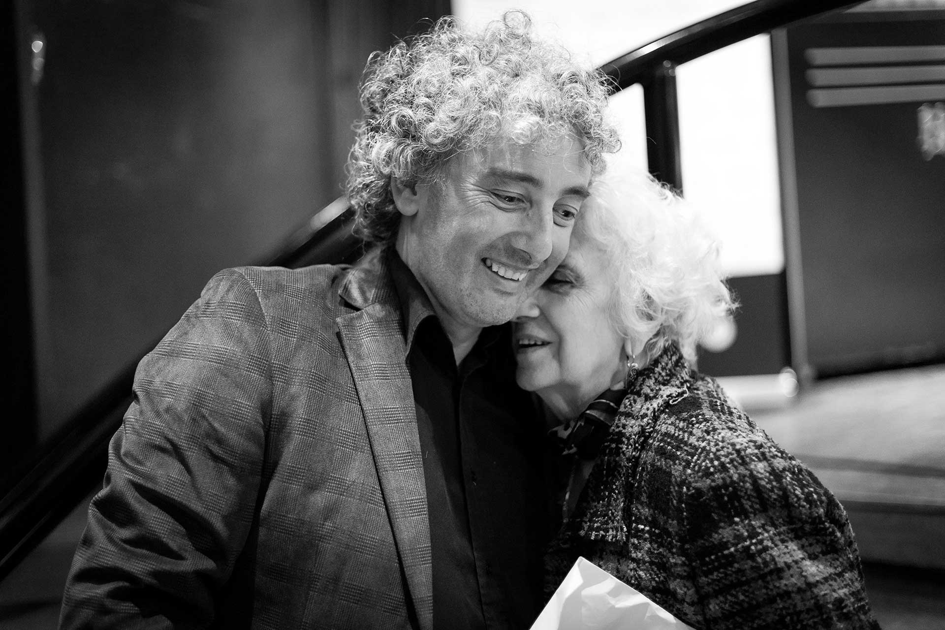
{"type": "Polygon", "coordinates": [[[723,242],[730,275],[784,268],[781,194],[767,35],[679,66],[685,196],[723,242]]]}

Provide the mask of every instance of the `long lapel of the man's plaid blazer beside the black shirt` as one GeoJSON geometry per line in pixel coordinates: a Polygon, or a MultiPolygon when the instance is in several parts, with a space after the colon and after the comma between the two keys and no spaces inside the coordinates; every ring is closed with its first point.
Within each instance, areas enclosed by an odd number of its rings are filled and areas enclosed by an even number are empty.
{"type": "MultiPolygon", "coordinates": [[[[386,269],[382,265],[379,271],[379,282],[383,283],[386,269]]],[[[364,410],[370,449],[410,596],[421,628],[430,630],[433,565],[429,517],[400,310],[387,291],[370,296],[363,288],[348,286],[343,290],[343,297],[363,308],[338,317],[336,322],[364,410]],[[365,305],[369,297],[381,299],[365,305]]]]}

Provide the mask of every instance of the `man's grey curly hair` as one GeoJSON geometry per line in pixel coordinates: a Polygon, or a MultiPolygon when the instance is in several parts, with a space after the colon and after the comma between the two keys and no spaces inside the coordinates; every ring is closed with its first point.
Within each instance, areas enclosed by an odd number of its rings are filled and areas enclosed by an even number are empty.
{"type": "Polygon", "coordinates": [[[355,233],[387,242],[400,214],[390,179],[439,181],[453,156],[494,143],[520,145],[574,134],[592,173],[620,146],[604,119],[603,75],[581,68],[557,45],[536,41],[531,20],[509,11],[481,33],[451,17],[368,60],[361,84],[364,119],[348,160],[355,233]]]}

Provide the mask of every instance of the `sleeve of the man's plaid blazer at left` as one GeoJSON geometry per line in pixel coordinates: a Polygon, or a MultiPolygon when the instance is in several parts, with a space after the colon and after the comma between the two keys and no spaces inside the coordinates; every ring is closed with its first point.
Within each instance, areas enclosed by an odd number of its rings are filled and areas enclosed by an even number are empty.
{"type": "Polygon", "coordinates": [[[253,519],[271,362],[249,281],[217,274],[135,374],[61,628],[204,627],[253,519]]]}

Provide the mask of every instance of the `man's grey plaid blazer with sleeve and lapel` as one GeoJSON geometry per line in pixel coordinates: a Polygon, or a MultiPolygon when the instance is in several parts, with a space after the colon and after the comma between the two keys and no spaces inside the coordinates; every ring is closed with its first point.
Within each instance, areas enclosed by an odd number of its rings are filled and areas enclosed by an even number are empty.
{"type": "Polygon", "coordinates": [[[222,271],[138,366],[62,628],[424,628],[427,504],[396,292],[222,271]]]}

